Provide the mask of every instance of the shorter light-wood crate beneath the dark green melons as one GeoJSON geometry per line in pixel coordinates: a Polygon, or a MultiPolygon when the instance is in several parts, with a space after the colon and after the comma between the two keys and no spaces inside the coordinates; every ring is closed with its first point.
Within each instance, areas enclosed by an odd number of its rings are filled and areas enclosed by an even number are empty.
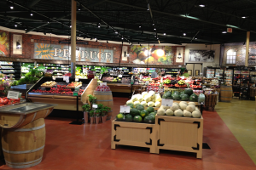
{"type": "Polygon", "coordinates": [[[124,144],[149,148],[150,153],[155,153],[156,134],[155,124],[113,120],[111,149],[115,149],[116,144],[124,144]]]}

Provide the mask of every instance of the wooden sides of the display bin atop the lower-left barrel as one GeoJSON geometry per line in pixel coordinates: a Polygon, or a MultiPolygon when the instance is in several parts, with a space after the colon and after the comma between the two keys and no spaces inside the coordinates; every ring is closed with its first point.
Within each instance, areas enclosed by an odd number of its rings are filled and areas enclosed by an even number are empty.
{"type": "Polygon", "coordinates": [[[48,116],[51,113],[51,111],[53,111],[53,109],[54,108],[51,107],[49,109],[45,109],[42,111],[35,111],[27,115],[9,114],[9,113],[0,112],[0,127],[3,127],[3,128],[23,127],[30,122],[38,120],[39,118],[44,118],[48,116]]]}

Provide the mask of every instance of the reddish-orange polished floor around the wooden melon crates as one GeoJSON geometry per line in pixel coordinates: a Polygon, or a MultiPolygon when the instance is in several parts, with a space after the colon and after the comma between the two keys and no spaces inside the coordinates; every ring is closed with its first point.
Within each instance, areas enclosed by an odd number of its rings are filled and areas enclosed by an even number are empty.
{"type": "MultiPolygon", "coordinates": [[[[114,98],[116,108],[113,115],[126,100],[114,98]]],[[[146,148],[131,146],[118,146],[111,150],[111,121],[98,125],[70,125],[71,119],[48,117],[45,119],[43,161],[26,169],[256,170],[251,158],[217,112],[204,111],[203,116],[203,140],[211,150],[203,150],[202,159],[196,159],[193,153],[171,150],[160,150],[160,155],[150,154],[146,148]]],[[[3,165],[0,169],[12,168],[3,165]]]]}

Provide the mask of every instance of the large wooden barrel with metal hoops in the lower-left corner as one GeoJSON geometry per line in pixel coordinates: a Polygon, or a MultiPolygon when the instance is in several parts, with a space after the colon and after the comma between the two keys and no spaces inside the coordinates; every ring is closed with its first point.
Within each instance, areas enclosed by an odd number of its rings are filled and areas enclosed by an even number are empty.
{"type": "Polygon", "coordinates": [[[20,128],[3,128],[3,155],[9,167],[26,168],[38,165],[43,158],[44,144],[44,118],[20,128]]]}

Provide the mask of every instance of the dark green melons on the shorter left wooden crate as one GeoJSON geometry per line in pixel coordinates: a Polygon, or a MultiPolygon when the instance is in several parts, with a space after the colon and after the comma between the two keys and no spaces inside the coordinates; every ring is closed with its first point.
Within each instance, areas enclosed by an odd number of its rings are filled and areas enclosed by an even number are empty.
{"type": "Polygon", "coordinates": [[[131,107],[130,114],[119,113],[116,116],[117,121],[154,123],[156,113],[153,107],[148,107],[145,110],[141,104],[137,106],[129,104],[129,106],[131,107]]]}

